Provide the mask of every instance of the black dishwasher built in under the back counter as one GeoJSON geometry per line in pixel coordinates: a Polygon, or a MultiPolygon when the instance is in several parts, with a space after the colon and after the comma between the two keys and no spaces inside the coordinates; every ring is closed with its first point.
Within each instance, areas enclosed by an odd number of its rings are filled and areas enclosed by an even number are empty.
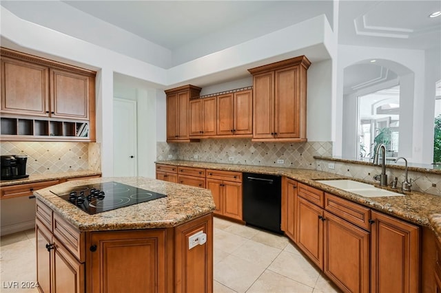
{"type": "Polygon", "coordinates": [[[280,230],[282,180],[278,175],[243,173],[243,220],[250,226],[280,230]]]}

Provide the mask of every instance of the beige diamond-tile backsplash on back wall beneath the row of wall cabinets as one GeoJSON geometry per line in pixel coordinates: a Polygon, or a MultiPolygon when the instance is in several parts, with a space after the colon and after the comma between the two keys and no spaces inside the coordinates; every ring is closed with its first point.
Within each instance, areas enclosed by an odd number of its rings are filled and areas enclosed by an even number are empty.
{"type": "Polygon", "coordinates": [[[252,142],[249,139],[207,139],[201,142],[157,142],[157,160],[187,160],[316,169],[314,155],[331,154],[331,142],[252,142]],[[283,160],[283,164],[278,164],[283,160]]]}

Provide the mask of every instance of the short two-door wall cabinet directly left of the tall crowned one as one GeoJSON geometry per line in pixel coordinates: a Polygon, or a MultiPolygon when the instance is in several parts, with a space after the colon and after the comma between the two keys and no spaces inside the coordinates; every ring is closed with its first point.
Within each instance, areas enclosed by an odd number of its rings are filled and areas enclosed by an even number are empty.
{"type": "Polygon", "coordinates": [[[217,96],[217,135],[252,136],[252,97],[251,89],[217,96]]]}

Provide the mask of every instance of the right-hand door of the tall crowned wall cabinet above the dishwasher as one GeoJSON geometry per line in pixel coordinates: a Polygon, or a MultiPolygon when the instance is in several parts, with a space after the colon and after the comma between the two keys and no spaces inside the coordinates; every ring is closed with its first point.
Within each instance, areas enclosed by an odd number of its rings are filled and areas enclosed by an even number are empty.
{"type": "Polygon", "coordinates": [[[274,132],[276,138],[300,138],[298,67],[275,72],[274,132]]]}

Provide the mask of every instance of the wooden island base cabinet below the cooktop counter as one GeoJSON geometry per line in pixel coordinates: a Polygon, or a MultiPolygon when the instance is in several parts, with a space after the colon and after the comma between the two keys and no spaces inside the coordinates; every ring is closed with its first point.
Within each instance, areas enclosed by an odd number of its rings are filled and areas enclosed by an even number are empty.
{"type": "Polygon", "coordinates": [[[213,292],[212,214],[172,228],[79,232],[37,206],[40,292],[213,292]],[[198,232],[207,241],[190,249],[198,232]]]}

